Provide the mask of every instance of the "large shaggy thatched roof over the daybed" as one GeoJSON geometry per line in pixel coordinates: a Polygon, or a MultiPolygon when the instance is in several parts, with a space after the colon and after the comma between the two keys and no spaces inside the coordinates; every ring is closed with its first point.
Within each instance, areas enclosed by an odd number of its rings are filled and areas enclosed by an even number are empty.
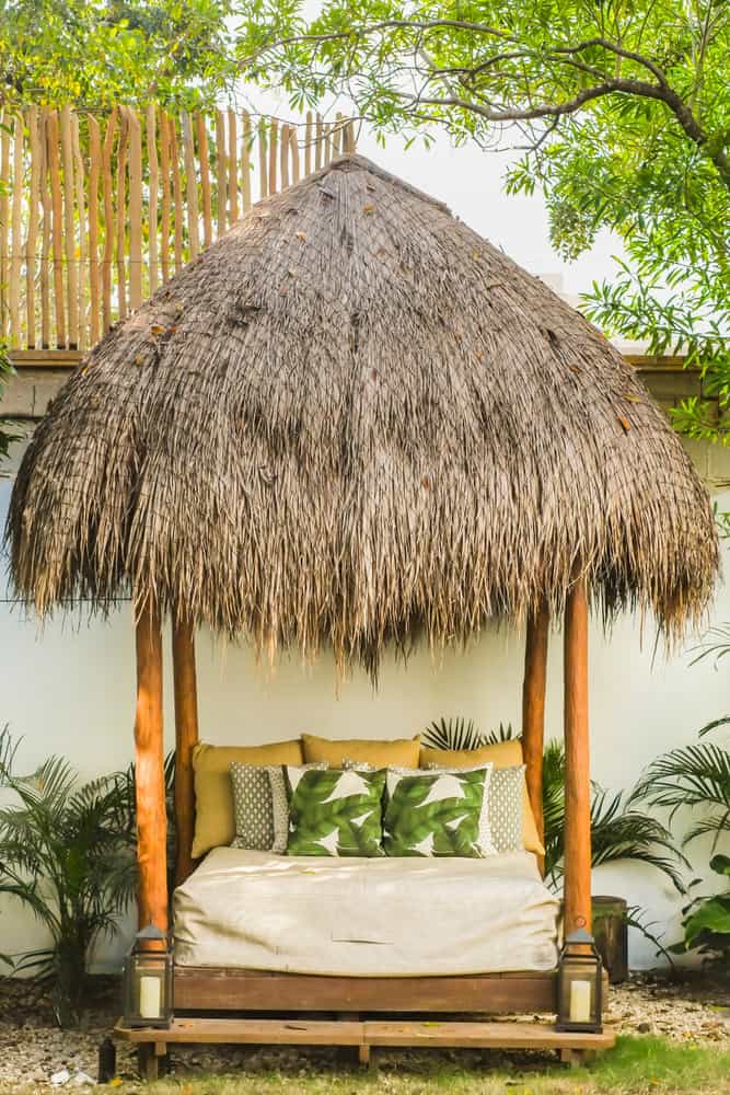
{"type": "Polygon", "coordinates": [[[710,597],[707,495],[577,312],[360,157],[259,203],[91,353],[9,519],[20,595],[131,588],[260,648],[371,667],[416,632],[710,597]]]}

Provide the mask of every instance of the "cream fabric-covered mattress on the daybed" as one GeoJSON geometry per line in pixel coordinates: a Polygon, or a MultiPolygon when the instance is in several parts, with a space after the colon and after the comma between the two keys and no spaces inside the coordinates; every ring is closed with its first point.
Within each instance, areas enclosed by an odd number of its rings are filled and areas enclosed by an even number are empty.
{"type": "Polygon", "coordinates": [[[217,848],[175,891],[175,960],[352,977],[547,970],[534,855],[321,858],[217,848]]]}

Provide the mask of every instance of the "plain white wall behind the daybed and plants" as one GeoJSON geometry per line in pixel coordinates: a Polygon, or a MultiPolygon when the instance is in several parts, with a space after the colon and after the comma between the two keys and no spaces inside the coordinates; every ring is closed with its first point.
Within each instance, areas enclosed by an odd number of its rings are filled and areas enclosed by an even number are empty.
{"type": "MultiPolygon", "coordinates": [[[[722,454],[696,446],[704,475],[721,474],[722,454]]],[[[0,482],[4,521],[11,484],[0,482]]],[[[730,494],[719,495],[730,508],[730,494]]],[[[3,565],[4,566],[4,565],[3,565]]],[[[4,579],[0,588],[4,587],[4,579]]],[[[730,590],[718,591],[714,621],[730,620],[730,590]]],[[[673,746],[696,738],[696,730],[727,711],[727,669],[710,660],[690,667],[687,649],[669,660],[654,656],[654,632],[644,642],[637,622],[619,621],[611,635],[598,623],[591,634],[592,775],[611,788],[631,784],[641,769],[673,746]]],[[[174,739],[170,642],[166,636],[165,736],[174,739]]],[[[58,619],[39,631],[12,595],[0,603],[0,724],[23,735],[19,759],[27,770],[50,752],[63,753],[82,776],[125,766],[131,759],[135,704],[134,634],[125,607],[109,621],[58,619]]],[[[500,721],[519,725],[522,636],[490,632],[465,652],[448,652],[433,661],[415,654],[407,667],[386,659],[380,689],[373,693],[362,672],[336,687],[332,660],[303,669],[298,658],[274,668],[257,666],[245,646],[198,642],[201,737],[217,742],[258,742],[288,738],[302,730],[332,737],[402,737],[441,715],[473,717],[488,729],[500,721]]],[[[561,644],[554,635],[549,654],[547,734],[561,733],[561,644]]],[[[694,866],[707,874],[707,850],[697,848],[694,866]]],[[[596,871],[594,892],[613,892],[644,906],[667,932],[677,932],[682,903],[656,872],[640,866],[596,871]]],[[[38,943],[37,926],[25,911],[0,900],[0,952],[38,943]]],[[[119,941],[103,948],[100,961],[114,963],[119,941]]],[[[630,958],[637,967],[656,965],[653,947],[631,933],[630,958]]]]}

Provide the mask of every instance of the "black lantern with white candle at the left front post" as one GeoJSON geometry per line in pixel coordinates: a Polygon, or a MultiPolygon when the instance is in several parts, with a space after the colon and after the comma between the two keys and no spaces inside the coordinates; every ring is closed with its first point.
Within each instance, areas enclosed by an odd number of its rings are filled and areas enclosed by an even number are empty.
{"type": "Polygon", "coordinates": [[[154,924],[135,936],[124,966],[124,1023],[129,1027],[170,1026],[173,1017],[173,956],[154,924]]]}

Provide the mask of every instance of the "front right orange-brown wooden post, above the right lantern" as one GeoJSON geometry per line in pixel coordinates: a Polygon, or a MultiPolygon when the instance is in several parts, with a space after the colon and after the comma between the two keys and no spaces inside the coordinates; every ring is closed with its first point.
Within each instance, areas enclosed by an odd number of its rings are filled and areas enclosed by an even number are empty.
{"type": "Polygon", "coordinates": [[[588,597],[578,577],[565,609],[565,933],[591,930],[588,597]]]}

